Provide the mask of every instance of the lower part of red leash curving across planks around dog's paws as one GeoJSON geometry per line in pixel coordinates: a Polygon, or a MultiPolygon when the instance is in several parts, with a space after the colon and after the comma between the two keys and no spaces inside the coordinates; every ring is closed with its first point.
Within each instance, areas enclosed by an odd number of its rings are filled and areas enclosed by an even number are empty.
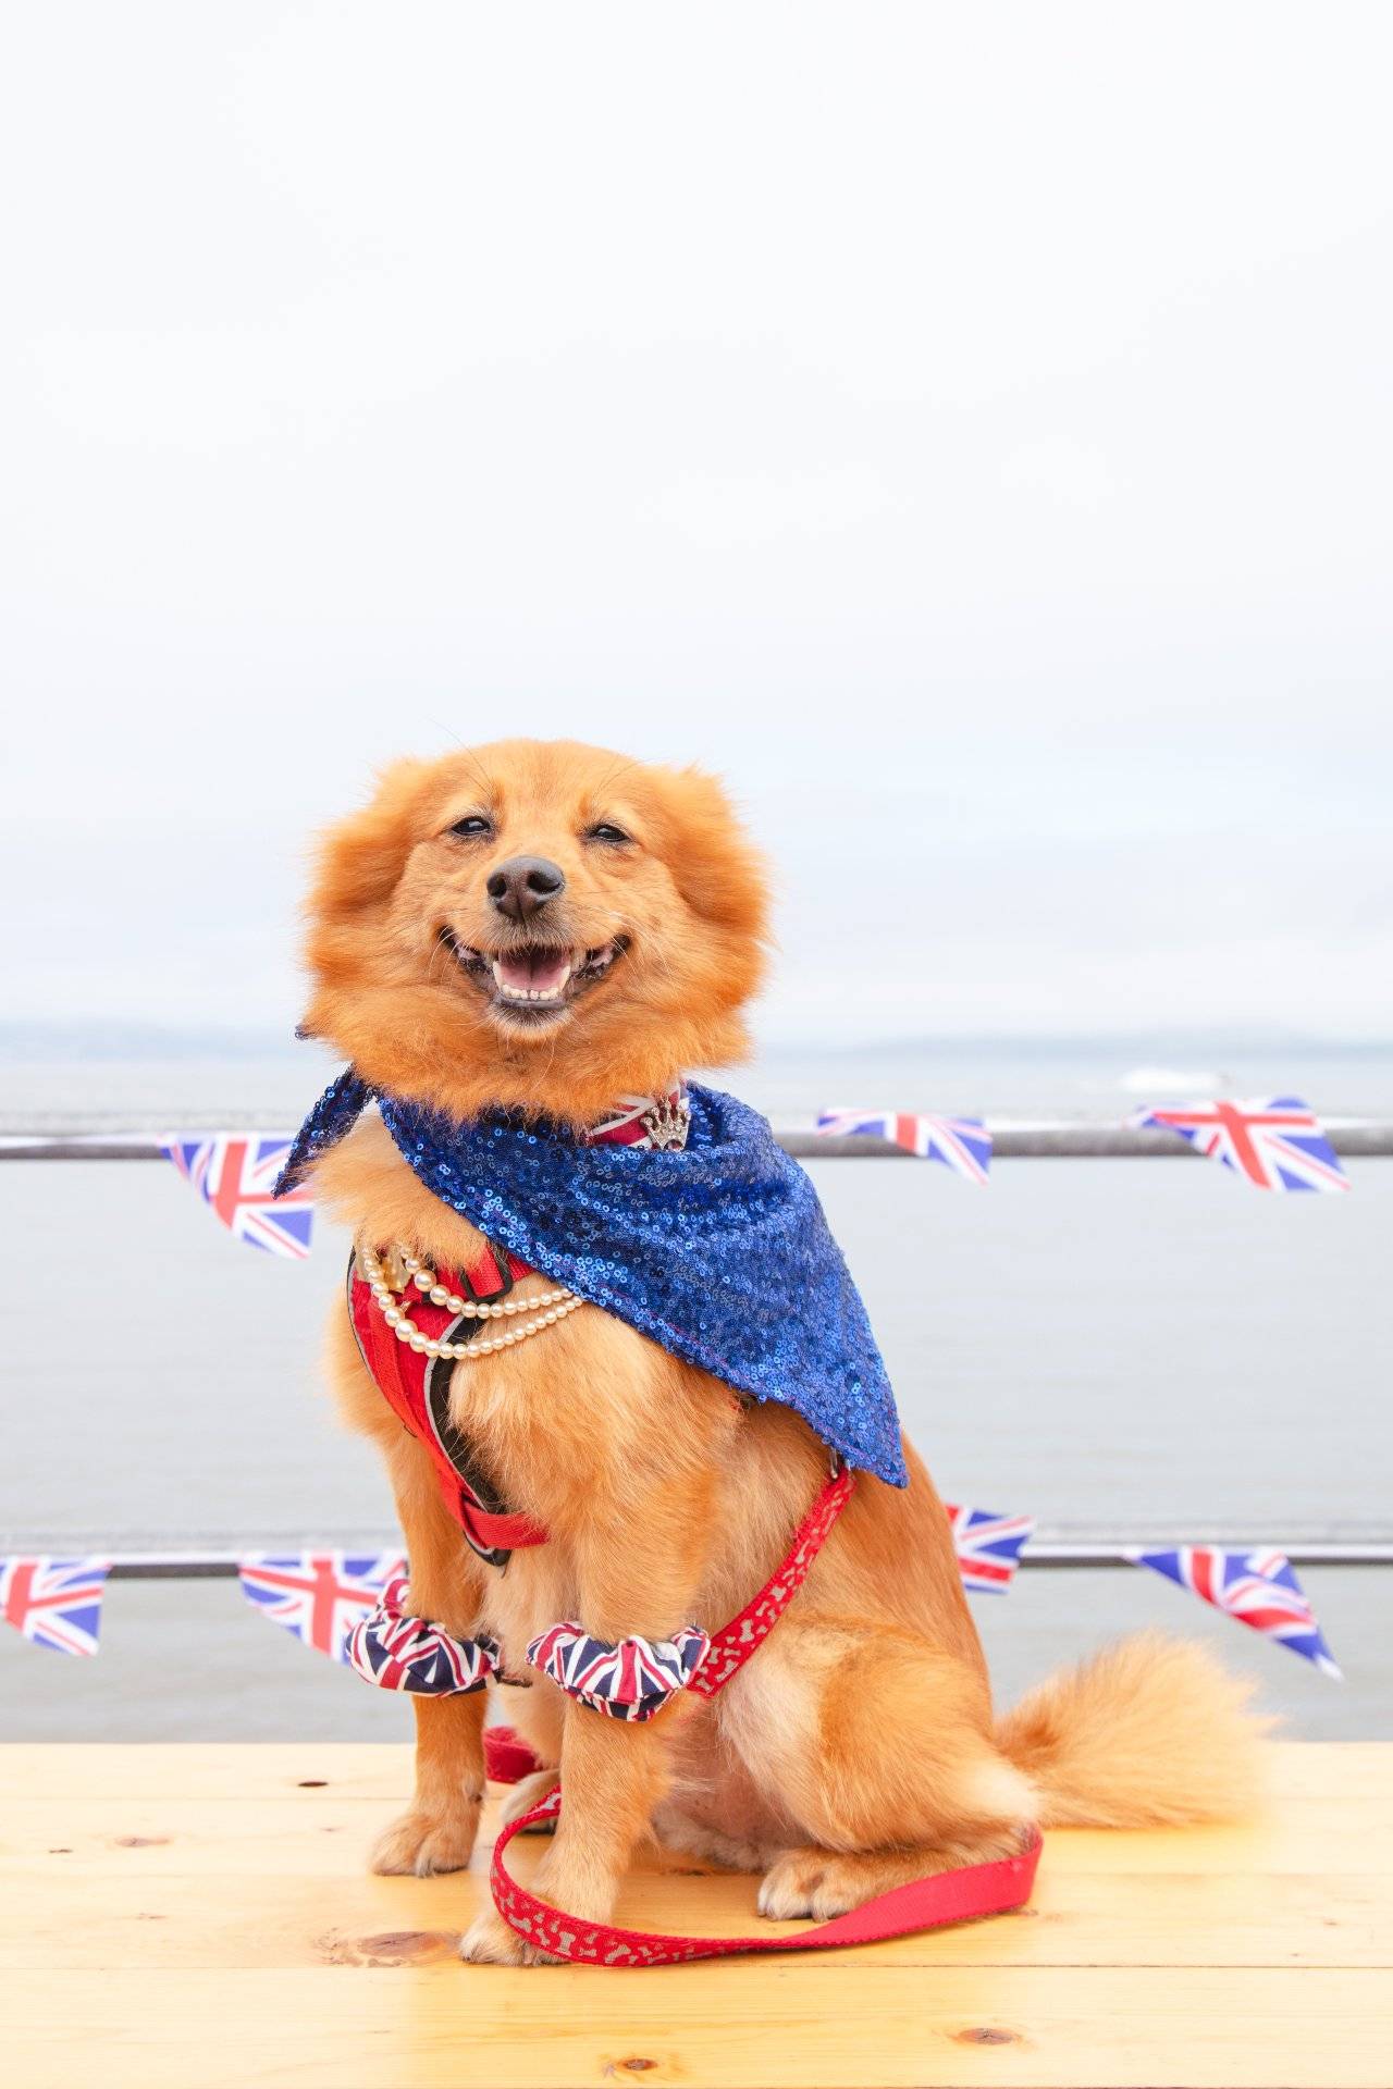
{"type": "Polygon", "coordinates": [[[936,1930],[946,1922],[975,1922],[979,1916],[1002,1916],[1023,1907],[1036,1882],[1040,1836],[1036,1834],[1019,1857],[998,1857],[994,1863],[967,1863],[957,1872],[936,1872],[915,1878],[908,1886],[879,1893],[863,1907],[831,1922],[814,1922],[792,1937],[670,1937],[664,1930],[618,1930],[608,1922],[576,1922],[549,1901],[520,1886],[503,1863],[503,1851],[516,1834],[562,1811],[562,1788],[510,1822],[493,1845],[489,1886],[493,1905],[503,1920],[551,1957],[574,1966],[677,1966],[683,1959],[729,1957],[739,1951],[827,1951],[833,1945],[875,1945],[886,1937],[906,1937],[911,1930],[936,1930]]]}

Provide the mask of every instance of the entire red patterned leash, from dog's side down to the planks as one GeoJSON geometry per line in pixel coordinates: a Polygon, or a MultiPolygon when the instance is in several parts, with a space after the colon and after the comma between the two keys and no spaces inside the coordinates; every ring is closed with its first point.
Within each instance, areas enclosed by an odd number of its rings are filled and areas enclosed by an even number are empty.
{"type": "MultiPolygon", "coordinates": [[[[852,1487],[854,1475],[846,1469],[827,1481],[794,1531],[794,1542],[779,1569],[754,1602],[748,1602],[739,1617],[733,1617],[712,1638],[710,1652],[691,1677],[689,1690],[714,1696],[769,1638],[806,1581],[808,1569],[831,1525],[846,1508],[852,1487]]],[[[541,1767],[526,1742],[518,1740],[507,1726],[485,1730],[485,1763],[489,1776],[499,1784],[518,1784],[541,1767]]],[[[549,1901],[539,1901],[535,1893],[516,1882],[503,1863],[503,1851],[516,1834],[556,1820],[560,1811],[562,1788],[553,1784],[530,1813],[522,1813],[499,1832],[493,1845],[489,1888],[493,1905],[518,1937],[551,1957],[572,1959],[579,1966],[675,1966],[681,1959],[729,1957],[737,1951],[825,1951],[831,1945],[871,1945],[886,1937],[906,1937],[911,1930],[934,1930],[946,1922],[973,1922],[979,1916],[1000,1916],[1011,1907],[1023,1907],[1040,1861],[1040,1836],[1036,1834],[1019,1857],[998,1857],[994,1863],[969,1863],[957,1872],[915,1878],[906,1886],[879,1893],[873,1901],[865,1901],[863,1907],[854,1907],[833,1922],[817,1922],[792,1937],[668,1937],[662,1930],[616,1930],[608,1922],[576,1922],[574,1916],[551,1907],[549,1901]]]]}

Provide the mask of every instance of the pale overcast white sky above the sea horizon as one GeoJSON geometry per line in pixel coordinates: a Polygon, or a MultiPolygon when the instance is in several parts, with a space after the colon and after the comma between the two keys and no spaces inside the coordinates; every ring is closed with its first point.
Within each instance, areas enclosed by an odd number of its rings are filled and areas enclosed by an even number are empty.
{"type": "Polygon", "coordinates": [[[721,769],[771,1038],[1393,1034],[1383,6],[31,6],[8,1013],[280,1034],[307,831],[721,769]]]}

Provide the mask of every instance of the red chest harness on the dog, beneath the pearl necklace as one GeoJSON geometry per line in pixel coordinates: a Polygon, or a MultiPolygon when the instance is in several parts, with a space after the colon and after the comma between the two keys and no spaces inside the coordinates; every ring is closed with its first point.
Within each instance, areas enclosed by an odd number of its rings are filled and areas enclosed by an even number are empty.
{"type": "MultiPolygon", "coordinates": [[[[501,1255],[503,1251],[499,1251],[501,1255]]],[[[514,1278],[528,1276],[528,1264],[516,1255],[499,1262],[485,1249],[472,1270],[462,1276],[445,1274],[451,1291],[462,1291],[468,1299],[491,1301],[503,1297],[514,1287],[514,1278]]],[[[349,1264],[349,1318],[378,1391],[388,1402],[405,1429],[424,1446],[434,1466],[441,1500],[464,1531],[466,1540],[480,1554],[501,1567],[510,1552],[522,1546],[545,1546],[547,1533],[528,1515],[507,1510],[489,1487],[487,1479],[472,1469],[470,1448],[449,1421],[449,1375],[451,1360],[424,1356],[409,1343],[397,1341],[391,1327],[378,1312],[372,1291],[357,1270],[357,1258],[349,1264]]],[[[432,1306],[420,1293],[411,1304],[411,1324],[439,1341],[451,1331],[451,1341],[466,1339],[480,1322],[457,1320],[449,1306],[432,1306]]]]}

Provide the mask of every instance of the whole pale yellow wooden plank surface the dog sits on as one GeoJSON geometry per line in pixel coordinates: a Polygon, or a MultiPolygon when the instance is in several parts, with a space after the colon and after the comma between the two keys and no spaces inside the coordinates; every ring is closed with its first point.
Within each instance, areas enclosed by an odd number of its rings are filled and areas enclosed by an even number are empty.
{"type": "MultiPolygon", "coordinates": [[[[1021,1916],[654,1972],[462,1966],[476,1874],[370,1878],[386,1746],[0,1751],[8,2089],[1389,2089],[1393,1746],[1286,1746],[1243,1830],[1046,1838],[1021,1916]]],[[[535,1849],[520,1849],[526,1876],[535,1849]]],[[[637,1874],[620,1920],[750,1924],[637,1874]]]]}

